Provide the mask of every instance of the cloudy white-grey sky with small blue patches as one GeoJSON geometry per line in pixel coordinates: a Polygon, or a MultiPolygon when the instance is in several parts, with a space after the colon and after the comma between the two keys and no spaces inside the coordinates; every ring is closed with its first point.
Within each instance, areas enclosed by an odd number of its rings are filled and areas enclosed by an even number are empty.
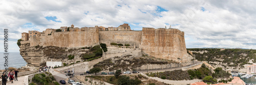
{"type": "Polygon", "coordinates": [[[256,1],[0,1],[0,49],[8,29],[10,52],[19,52],[17,40],[29,30],[42,32],[60,26],[172,28],[185,33],[187,48],[256,49],[256,1]]]}

